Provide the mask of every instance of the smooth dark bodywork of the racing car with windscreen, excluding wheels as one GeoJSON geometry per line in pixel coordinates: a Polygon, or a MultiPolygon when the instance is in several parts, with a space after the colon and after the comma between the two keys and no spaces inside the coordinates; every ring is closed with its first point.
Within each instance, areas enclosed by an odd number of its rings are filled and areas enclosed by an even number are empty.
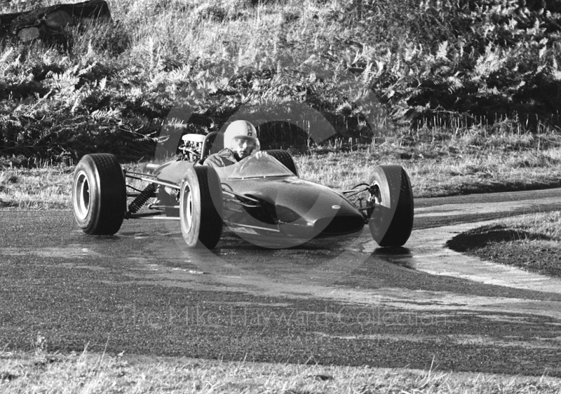
{"type": "MultiPolygon", "coordinates": [[[[189,165],[168,162],[154,175],[179,185],[189,165]]],[[[286,246],[320,235],[356,233],[365,225],[363,214],[343,193],[297,177],[271,154],[215,170],[222,185],[224,224],[254,243],[286,246]]]]}

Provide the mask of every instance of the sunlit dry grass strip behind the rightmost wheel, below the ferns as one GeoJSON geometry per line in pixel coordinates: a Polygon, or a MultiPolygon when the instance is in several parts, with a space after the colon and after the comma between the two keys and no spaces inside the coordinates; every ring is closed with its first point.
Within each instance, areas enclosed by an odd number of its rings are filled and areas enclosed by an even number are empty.
{"type": "Polygon", "coordinates": [[[335,189],[370,179],[374,165],[400,164],[417,198],[561,186],[560,148],[456,154],[378,149],[297,156],[295,161],[301,177],[335,189]]]}

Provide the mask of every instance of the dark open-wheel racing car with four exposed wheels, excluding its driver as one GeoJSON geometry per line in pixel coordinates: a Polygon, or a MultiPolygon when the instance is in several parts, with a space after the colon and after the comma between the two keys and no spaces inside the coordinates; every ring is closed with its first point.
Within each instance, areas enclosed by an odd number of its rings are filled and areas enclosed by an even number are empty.
{"type": "Polygon", "coordinates": [[[380,247],[405,245],[413,194],[400,165],[377,165],[367,182],[335,191],[299,177],[288,151],[272,149],[234,165],[204,165],[218,132],[182,137],[177,158],[144,170],[123,170],[111,154],[86,154],[74,170],[76,223],[91,235],[112,235],[125,219],[180,222],[189,247],[217,247],[224,226],[257,245],[285,248],[369,226],[380,247]],[[145,184],[142,186],[137,184],[145,184]]]}

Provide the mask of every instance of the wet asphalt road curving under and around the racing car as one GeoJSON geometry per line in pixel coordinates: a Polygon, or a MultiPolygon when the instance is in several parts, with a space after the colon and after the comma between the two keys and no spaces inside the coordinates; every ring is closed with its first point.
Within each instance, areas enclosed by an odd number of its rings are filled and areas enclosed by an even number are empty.
{"type": "Polygon", "coordinates": [[[560,208],[560,189],[419,199],[399,250],[367,230],[290,250],[226,231],[212,252],[177,222],[86,236],[70,211],[0,210],[0,348],[561,376],[561,281],[445,247],[560,208]]]}

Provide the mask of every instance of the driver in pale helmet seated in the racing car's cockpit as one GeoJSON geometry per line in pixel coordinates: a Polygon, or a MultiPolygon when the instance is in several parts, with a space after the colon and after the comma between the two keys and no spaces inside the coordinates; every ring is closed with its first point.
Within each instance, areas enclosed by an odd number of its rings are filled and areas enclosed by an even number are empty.
{"type": "Polygon", "coordinates": [[[248,121],[234,121],[224,132],[224,149],[205,159],[204,165],[211,167],[226,167],[235,164],[252,154],[260,156],[260,145],[257,140],[257,130],[248,121]]]}

